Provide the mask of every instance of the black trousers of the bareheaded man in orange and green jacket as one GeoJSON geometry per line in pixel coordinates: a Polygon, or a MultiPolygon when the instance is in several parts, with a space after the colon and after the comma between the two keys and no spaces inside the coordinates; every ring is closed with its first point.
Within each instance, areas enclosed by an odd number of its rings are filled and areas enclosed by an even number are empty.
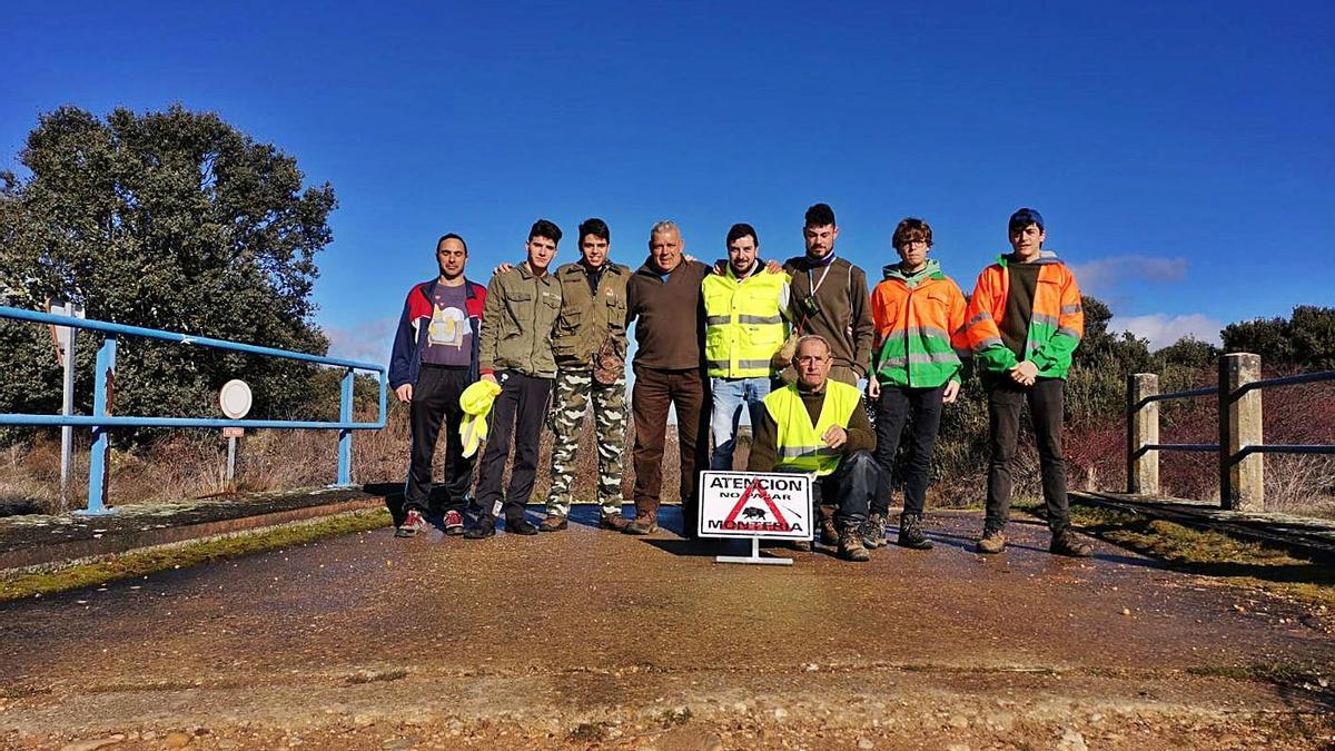
{"type": "Polygon", "coordinates": [[[908,456],[904,468],[904,513],[922,514],[926,486],[932,476],[932,446],[941,429],[941,393],[934,389],[881,386],[876,402],[876,464],[881,466],[881,488],[872,501],[872,513],[888,514],[894,494],[894,456],[908,424],[908,456]]]}

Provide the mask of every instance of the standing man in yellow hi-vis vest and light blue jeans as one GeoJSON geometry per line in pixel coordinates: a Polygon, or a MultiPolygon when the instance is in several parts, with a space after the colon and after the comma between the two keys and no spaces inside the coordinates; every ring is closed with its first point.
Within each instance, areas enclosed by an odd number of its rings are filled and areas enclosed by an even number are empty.
{"type": "Polygon", "coordinates": [[[701,282],[705,302],[705,367],[713,396],[709,468],[730,470],[742,408],[752,426],[765,412],[774,357],[788,338],[788,274],[768,274],[750,224],[728,230],[728,266],[701,282]]]}

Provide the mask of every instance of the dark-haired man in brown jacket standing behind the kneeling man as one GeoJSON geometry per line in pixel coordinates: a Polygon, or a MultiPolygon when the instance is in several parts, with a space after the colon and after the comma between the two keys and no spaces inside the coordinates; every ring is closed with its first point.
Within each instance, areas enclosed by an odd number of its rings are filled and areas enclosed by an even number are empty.
{"type": "MultiPolygon", "coordinates": [[[[820,334],[830,345],[830,378],[856,386],[866,377],[876,339],[866,273],[834,255],[838,224],[834,210],[817,203],[806,210],[802,226],[806,255],[789,258],[784,271],[793,278],[789,321],[802,334],[820,334]]],[[[782,373],[792,384],[797,373],[782,373]]]]}

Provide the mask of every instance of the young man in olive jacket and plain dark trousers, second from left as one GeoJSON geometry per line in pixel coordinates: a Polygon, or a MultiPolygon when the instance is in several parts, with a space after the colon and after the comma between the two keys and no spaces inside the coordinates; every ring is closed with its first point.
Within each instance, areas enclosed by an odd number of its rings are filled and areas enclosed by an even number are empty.
{"type": "Polygon", "coordinates": [[[551,353],[551,330],[561,313],[561,285],[547,273],[557,255],[561,229],[538,219],[529,230],[529,259],[499,271],[487,286],[482,309],[478,370],[483,381],[501,385],[501,396],[491,406],[491,429],[482,453],[478,476],[478,505],[482,513],[463,533],[467,540],[495,535],[497,517],[505,512],[506,531],[537,535],[538,528],[523,517],[523,506],[533,493],[533,476],[538,462],[538,442],[547,417],[547,400],[557,362],[551,353]],[[510,488],[501,496],[510,442],[514,441],[514,466],[510,488]]]}

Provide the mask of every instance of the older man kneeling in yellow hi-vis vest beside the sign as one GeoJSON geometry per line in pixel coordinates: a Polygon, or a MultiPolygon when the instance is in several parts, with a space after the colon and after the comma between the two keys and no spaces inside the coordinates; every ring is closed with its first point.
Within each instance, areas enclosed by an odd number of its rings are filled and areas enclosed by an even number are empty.
{"type": "Polygon", "coordinates": [[[793,366],[797,382],[765,397],[746,470],[814,476],[814,504],[836,505],[840,557],[869,560],[858,528],[876,494],[880,469],[872,458],[876,432],[862,409],[861,392],[830,380],[830,346],[824,337],[798,339],[793,366]]]}

